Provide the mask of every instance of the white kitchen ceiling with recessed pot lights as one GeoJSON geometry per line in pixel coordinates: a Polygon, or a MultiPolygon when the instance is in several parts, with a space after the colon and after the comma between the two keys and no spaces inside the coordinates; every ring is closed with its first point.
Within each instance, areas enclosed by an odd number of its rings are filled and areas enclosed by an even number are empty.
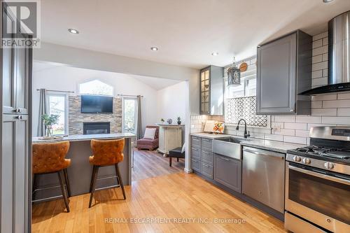
{"type": "Polygon", "coordinates": [[[45,0],[41,34],[45,42],[202,68],[254,55],[259,43],[295,29],[326,31],[346,10],[349,0],[45,0]]]}

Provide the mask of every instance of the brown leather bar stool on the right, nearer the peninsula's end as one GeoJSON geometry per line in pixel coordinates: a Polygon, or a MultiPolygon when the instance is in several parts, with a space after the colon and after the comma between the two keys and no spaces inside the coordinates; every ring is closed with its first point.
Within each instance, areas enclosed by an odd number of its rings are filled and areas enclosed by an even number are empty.
{"type": "MultiPolygon", "coordinates": [[[[89,157],[90,164],[94,167],[92,169],[92,177],[90,183],[90,202],[89,208],[92,204],[92,197],[94,197],[95,185],[97,179],[97,173],[99,172],[99,167],[115,166],[116,167],[116,177],[118,180],[118,185],[112,186],[110,188],[121,187],[123,191],[123,197],[125,197],[125,190],[120,176],[120,171],[118,168],[118,163],[124,160],[124,144],[125,139],[117,140],[91,140],[91,149],[93,155],[89,157]]],[[[102,188],[104,189],[104,188],[102,188]]],[[[100,190],[100,189],[99,189],[100,190]]]]}

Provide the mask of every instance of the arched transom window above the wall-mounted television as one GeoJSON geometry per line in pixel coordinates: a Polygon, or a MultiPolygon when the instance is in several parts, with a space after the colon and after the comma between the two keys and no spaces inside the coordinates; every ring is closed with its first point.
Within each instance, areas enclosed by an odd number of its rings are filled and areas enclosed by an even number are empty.
{"type": "Polygon", "coordinates": [[[113,96],[113,87],[100,80],[92,80],[79,84],[80,94],[103,94],[113,96]]]}

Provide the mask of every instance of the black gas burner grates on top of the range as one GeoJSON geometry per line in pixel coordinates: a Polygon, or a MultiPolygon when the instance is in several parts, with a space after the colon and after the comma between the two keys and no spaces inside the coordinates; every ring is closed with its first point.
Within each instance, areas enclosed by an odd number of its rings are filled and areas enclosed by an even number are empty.
{"type": "Polygon", "coordinates": [[[319,146],[305,146],[302,148],[296,148],[295,151],[299,153],[318,155],[322,157],[333,157],[338,160],[350,160],[349,149],[327,148],[319,146]]]}

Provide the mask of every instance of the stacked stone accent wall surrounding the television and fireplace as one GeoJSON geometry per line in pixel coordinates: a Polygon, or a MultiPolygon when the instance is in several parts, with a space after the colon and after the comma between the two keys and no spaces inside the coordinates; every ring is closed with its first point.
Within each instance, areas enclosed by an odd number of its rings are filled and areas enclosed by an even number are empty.
{"type": "Polygon", "coordinates": [[[83,134],[83,122],[111,122],[111,133],[122,132],[122,99],[114,98],[113,113],[81,113],[80,97],[69,97],[69,135],[83,134]]]}

